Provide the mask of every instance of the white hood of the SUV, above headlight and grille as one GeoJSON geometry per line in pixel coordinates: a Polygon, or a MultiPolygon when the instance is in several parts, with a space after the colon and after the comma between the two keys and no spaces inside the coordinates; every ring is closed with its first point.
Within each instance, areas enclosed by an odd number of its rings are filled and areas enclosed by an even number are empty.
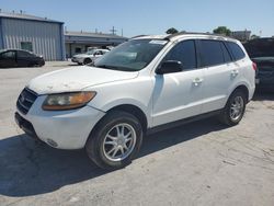
{"type": "Polygon", "coordinates": [[[134,79],[138,71],[117,71],[89,66],[61,69],[38,76],[30,81],[27,88],[37,94],[81,91],[87,87],[134,79]]]}

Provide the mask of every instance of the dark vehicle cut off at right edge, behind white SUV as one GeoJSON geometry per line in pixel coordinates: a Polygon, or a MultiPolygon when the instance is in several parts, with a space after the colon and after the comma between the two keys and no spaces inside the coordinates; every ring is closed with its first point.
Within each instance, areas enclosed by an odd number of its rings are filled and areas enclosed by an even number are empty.
{"type": "Polygon", "coordinates": [[[274,38],[256,38],[244,44],[256,64],[256,88],[274,91],[274,38]]]}

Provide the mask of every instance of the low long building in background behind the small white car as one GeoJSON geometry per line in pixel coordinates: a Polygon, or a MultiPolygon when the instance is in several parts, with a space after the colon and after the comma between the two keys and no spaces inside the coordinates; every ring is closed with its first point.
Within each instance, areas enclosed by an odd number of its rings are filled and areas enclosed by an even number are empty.
{"type": "Polygon", "coordinates": [[[75,54],[87,52],[89,47],[116,46],[126,41],[126,37],[113,34],[66,31],[66,56],[70,58],[75,54]]]}

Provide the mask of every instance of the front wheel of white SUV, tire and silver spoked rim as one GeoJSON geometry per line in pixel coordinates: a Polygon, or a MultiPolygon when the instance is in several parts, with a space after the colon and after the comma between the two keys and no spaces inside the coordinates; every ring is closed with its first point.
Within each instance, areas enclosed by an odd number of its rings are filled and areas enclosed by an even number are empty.
{"type": "Polygon", "coordinates": [[[141,141],[142,128],[139,121],[129,113],[114,111],[95,126],[85,144],[85,150],[89,158],[100,168],[116,170],[132,162],[140,149],[141,141]]]}

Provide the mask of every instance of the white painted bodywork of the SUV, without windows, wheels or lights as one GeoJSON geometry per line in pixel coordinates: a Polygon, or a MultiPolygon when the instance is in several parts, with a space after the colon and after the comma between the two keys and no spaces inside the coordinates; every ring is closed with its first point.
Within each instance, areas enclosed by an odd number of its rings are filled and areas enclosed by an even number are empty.
{"type": "MultiPolygon", "coordinates": [[[[139,38],[155,38],[146,36],[139,38]]],[[[156,75],[168,52],[185,39],[208,38],[207,35],[173,37],[153,60],[140,71],[114,71],[84,66],[65,69],[33,79],[27,88],[38,94],[30,112],[21,116],[30,121],[38,137],[54,139],[60,149],[79,149],[94,125],[109,110],[124,104],[139,107],[147,117],[148,128],[222,108],[238,85],[246,85],[249,100],[254,93],[254,70],[248,55],[237,62],[186,72],[156,75]],[[238,71],[237,75],[233,75],[238,71]],[[95,91],[84,107],[73,111],[43,111],[42,104],[52,93],[95,91]]],[[[210,36],[210,39],[219,37],[210,36]]],[[[229,41],[222,37],[224,41],[229,41]]],[[[232,41],[232,39],[231,39],[232,41]]],[[[240,44],[237,42],[237,44],[240,44]]]]}

